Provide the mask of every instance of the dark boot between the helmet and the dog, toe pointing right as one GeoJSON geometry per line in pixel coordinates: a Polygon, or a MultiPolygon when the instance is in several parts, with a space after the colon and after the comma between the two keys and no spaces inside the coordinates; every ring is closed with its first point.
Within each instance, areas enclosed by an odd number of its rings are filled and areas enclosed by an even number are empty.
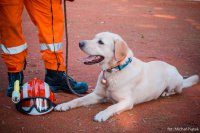
{"type": "MultiPolygon", "coordinates": [[[[45,82],[50,86],[51,90],[56,93],[58,90],[63,90],[71,93],[67,85],[67,75],[64,71],[46,70],[45,82]]],[[[76,93],[85,93],[88,90],[88,85],[85,82],[76,82],[69,77],[69,83],[76,93]]]]}

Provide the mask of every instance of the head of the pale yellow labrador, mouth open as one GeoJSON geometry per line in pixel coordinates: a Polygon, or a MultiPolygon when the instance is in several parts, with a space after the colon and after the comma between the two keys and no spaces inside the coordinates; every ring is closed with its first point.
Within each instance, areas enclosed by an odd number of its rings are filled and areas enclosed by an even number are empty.
{"type": "Polygon", "coordinates": [[[117,34],[101,32],[92,40],[80,41],[79,47],[89,56],[83,59],[84,64],[99,63],[104,69],[123,60],[128,54],[126,42],[117,34]]]}

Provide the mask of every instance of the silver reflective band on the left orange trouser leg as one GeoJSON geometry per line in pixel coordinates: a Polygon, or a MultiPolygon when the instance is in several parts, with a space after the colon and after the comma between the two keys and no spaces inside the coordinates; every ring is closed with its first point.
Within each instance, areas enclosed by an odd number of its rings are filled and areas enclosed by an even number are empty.
{"type": "Polygon", "coordinates": [[[27,43],[25,43],[20,46],[11,47],[11,48],[6,48],[6,46],[4,46],[3,44],[0,44],[0,47],[5,54],[18,54],[18,53],[23,52],[25,49],[27,49],[28,46],[27,46],[27,43]]]}

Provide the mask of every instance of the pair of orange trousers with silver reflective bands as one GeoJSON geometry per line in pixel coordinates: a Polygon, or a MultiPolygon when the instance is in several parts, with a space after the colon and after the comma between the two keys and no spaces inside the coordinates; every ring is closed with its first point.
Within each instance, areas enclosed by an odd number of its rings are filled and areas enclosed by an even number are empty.
{"type": "Polygon", "coordinates": [[[38,28],[45,68],[57,70],[59,62],[59,71],[65,71],[61,0],[0,0],[0,48],[8,72],[22,71],[27,56],[28,46],[21,27],[24,6],[38,28]]]}

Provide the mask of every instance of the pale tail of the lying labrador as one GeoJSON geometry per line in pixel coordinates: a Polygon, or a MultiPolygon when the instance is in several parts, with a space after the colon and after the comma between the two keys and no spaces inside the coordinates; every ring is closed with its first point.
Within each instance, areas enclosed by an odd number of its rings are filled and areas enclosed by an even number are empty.
{"type": "Polygon", "coordinates": [[[183,79],[182,88],[188,88],[191,87],[199,82],[199,76],[198,75],[192,75],[186,79],[183,79]]]}

